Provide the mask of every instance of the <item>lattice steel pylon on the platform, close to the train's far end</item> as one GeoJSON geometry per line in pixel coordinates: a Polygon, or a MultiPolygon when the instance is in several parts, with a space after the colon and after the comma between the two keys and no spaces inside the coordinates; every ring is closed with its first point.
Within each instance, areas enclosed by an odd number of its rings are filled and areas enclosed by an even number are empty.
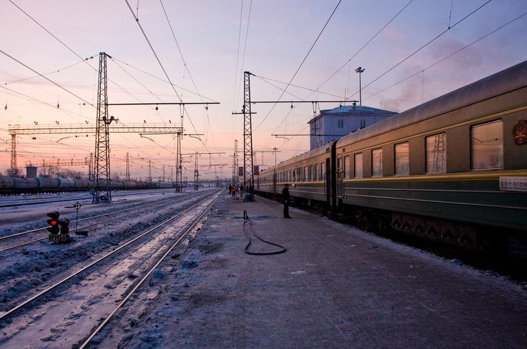
{"type": "Polygon", "coordinates": [[[255,186],[253,176],[253,125],[250,112],[250,76],[249,71],[244,71],[244,188],[248,185],[255,186]]]}

